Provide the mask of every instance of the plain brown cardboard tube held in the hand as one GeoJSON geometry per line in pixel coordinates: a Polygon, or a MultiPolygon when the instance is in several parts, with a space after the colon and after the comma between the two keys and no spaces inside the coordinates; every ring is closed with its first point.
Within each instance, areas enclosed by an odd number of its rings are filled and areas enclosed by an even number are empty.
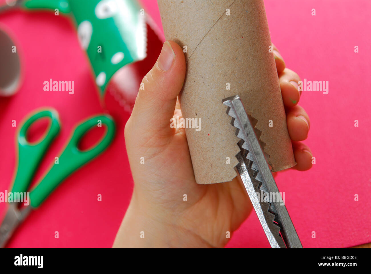
{"type": "Polygon", "coordinates": [[[236,94],[258,120],[272,170],[294,166],[263,0],[158,0],[158,6],[165,38],[186,49],[183,117],[201,118],[200,131],[186,128],[196,182],[236,177],[239,139],[221,103],[236,94]]]}

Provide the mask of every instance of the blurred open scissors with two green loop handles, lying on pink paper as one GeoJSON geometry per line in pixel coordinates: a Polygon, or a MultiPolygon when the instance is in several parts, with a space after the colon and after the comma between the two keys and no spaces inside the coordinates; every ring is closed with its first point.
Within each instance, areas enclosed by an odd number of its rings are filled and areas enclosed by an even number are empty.
{"type": "MultiPolygon", "coordinates": [[[[23,123],[16,139],[18,143],[19,159],[12,188],[13,196],[14,193],[25,193],[27,191],[40,161],[59,131],[59,115],[58,112],[52,108],[37,111],[23,123]],[[41,118],[50,119],[49,130],[44,134],[42,140],[38,143],[31,144],[26,140],[27,129],[36,122],[36,120],[41,118]]],[[[18,202],[15,199],[10,201],[9,208],[0,226],[0,247],[2,248],[5,246],[17,226],[24,221],[32,210],[37,209],[64,179],[75,172],[79,167],[102,153],[111,143],[114,134],[115,123],[109,115],[97,115],[77,125],[68,144],[59,156],[58,164],[55,162],[40,183],[30,191],[29,205],[19,209],[19,200],[18,202]],[[87,131],[97,126],[99,123],[106,126],[105,136],[91,149],[86,151],[79,150],[79,140],[87,131]]],[[[8,197],[5,198],[8,199],[8,197]]]]}

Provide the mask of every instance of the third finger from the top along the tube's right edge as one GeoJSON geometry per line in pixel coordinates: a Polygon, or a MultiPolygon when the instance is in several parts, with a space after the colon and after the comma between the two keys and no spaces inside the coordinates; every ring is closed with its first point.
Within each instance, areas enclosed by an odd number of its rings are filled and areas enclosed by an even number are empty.
{"type": "Polygon", "coordinates": [[[309,116],[305,110],[301,106],[296,105],[286,113],[286,118],[287,129],[291,140],[305,140],[308,137],[309,128],[311,127],[309,116]]]}

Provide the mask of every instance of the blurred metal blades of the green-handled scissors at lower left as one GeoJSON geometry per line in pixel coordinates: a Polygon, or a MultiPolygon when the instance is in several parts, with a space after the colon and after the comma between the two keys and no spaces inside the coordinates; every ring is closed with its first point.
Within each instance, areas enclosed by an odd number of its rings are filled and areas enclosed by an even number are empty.
{"type": "Polygon", "coordinates": [[[9,208],[0,226],[0,248],[5,247],[14,230],[16,230],[20,222],[26,218],[30,210],[30,206],[20,211],[17,207],[17,203],[11,203],[9,205],[9,208]]]}

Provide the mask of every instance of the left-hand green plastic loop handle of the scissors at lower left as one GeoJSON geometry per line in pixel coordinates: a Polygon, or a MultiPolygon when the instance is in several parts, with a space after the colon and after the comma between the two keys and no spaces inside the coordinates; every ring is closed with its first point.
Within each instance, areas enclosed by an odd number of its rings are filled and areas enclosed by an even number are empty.
{"type": "Polygon", "coordinates": [[[26,192],[32,177],[39,166],[47,148],[58,135],[60,123],[58,112],[54,109],[38,111],[28,118],[17,135],[18,142],[18,167],[14,179],[12,192],[26,192]],[[28,128],[38,119],[50,118],[51,124],[45,137],[38,143],[30,144],[26,140],[28,128]]]}

